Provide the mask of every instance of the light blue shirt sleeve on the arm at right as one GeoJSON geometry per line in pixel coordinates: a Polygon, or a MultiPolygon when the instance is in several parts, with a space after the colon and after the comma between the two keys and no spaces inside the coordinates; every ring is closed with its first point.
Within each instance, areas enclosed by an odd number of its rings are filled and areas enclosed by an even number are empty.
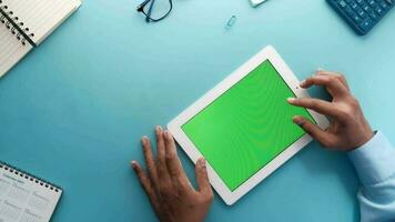
{"type": "Polygon", "coordinates": [[[362,186],[361,221],[395,221],[395,149],[382,132],[348,153],[362,186]]]}

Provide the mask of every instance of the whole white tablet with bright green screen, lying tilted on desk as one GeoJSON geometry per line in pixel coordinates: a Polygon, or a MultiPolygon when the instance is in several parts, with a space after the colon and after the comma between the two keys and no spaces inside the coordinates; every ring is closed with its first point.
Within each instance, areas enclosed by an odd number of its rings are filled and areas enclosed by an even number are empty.
{"type": "Polygon", "coordinates": [[[287,103],[310,97],[273,47],[266,47],[210,90],[168,129],[196,163],[207,161],[212,186],[233,204],[305,147],[312,138],[294,124],[303,115],[326,129],[325,117],[287,103]]]}

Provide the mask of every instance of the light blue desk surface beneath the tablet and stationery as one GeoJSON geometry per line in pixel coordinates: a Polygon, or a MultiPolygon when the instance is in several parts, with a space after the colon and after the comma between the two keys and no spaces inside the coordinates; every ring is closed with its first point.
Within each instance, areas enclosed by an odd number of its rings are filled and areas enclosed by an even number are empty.
{"type": "MultiPolygon", "coordinates": [[[[317,67],[344,72],[372,125],[395,142],[394,12],[357,37],[324,0],[256,9],[247,0],[176,0],[152,24],[135,4],[85,0],[0,80],[0,159],[64,189],[53,221],[153,221],[129,167],[143,160],[140,138],[267,44],[300,79],[317,67]],[[225,31],[232,14],[236,24],[225,31]]],[[[207,221],[358,221],[357,188],[344,154],[311,143],[235,205],[215,195],[207,221]]]]}

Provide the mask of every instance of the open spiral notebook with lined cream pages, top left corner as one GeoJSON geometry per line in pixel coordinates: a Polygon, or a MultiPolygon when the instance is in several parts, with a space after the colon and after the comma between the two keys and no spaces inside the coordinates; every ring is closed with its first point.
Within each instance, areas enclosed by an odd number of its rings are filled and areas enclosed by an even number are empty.
{"type": "Polygon", "coordinates": [[[0,78],[80,6],[80,0],[0,0],[0,78]]]}

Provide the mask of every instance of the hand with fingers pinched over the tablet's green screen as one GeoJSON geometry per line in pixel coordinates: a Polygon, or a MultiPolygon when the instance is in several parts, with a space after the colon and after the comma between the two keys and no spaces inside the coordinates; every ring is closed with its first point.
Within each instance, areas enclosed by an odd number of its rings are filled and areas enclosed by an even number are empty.
{"type": "Polygon", "coordinates": [[[324,147],[341,151],[354,150],[373,138],[374,133],[364,118],[359,103],[351,94],[348,84],[342,74],[317,71],[315,75],[301,83],[304,89],[312,85],[325,87],[333,98],[332,101],[290,98],[288,102],[330,117],[331,125],[322,130],[303,117],[294,117],[293,121],[304,131],[324,147]]]}

